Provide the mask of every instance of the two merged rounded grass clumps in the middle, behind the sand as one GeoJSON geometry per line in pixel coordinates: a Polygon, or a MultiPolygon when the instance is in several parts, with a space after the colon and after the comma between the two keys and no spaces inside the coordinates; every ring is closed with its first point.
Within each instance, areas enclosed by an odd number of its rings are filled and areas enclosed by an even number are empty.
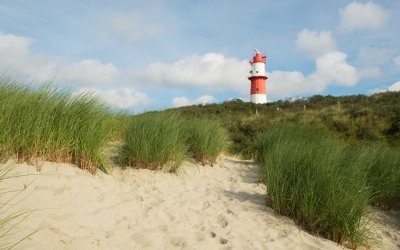
{"type": "Polygon", "coordinates": [[[130,166],[175,172],[190,157],[202,164],[215,163],[227,142],[227,133],[217,121],[145,113],[133,117],[126,130],[121,160],[130,166]]]}

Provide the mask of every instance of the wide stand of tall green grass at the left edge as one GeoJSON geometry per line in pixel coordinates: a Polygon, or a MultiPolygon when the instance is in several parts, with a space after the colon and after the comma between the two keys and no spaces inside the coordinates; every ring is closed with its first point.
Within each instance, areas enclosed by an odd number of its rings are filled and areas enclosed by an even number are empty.
{"type": "Polygon", "coordinates": [[[106,171],[101,155],[111,112],[88,94],[72,95],[0,79],[0,158],[71,162],[106,171]]]}

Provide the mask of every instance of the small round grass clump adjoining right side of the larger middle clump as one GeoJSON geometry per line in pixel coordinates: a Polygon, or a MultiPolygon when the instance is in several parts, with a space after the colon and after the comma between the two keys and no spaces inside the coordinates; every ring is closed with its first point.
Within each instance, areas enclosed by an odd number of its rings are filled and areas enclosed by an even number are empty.
{"type": "Polygon", "coordinates": [[[203,165],[213,165],[228,145],[228,134],[215,119],[190,119],[185,122],[185,132],[189,153],[203,165]]]}

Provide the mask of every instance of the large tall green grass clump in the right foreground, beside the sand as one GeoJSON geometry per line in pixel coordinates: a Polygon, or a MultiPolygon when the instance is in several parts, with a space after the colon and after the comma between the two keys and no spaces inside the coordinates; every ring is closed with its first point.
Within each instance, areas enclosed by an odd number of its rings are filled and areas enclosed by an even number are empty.
{"type": "Polygon", "coordinates": [[[370,192],[363,151],[315,128],[287,124],[271,126],[256,148],[270,204],[279,214],[341,244],[366,242],[370,192]]]}

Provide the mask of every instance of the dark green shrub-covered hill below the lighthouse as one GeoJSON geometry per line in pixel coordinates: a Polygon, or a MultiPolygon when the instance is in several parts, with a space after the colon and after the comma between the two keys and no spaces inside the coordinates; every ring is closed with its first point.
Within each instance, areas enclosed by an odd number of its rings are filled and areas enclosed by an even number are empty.
{"type": "Polygon", "coordinates": [[[371,96],[315,95],[258,105],[235,99],[167,111],[218,119],[230,133],[232,153],[244,158],[253,157],[257,134],[276,123],[311,124],[349,143],[400,145],[399,92],[371,96]]]}

